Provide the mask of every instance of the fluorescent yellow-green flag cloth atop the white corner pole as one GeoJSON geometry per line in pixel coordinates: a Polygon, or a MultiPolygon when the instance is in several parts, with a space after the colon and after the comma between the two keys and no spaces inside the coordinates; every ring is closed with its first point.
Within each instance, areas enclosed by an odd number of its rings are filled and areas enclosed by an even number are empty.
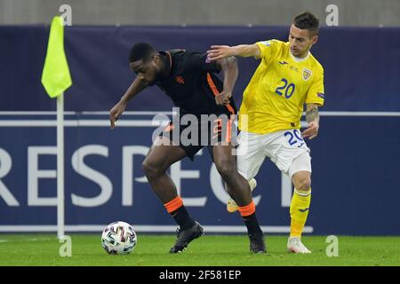
{"type": "Polygon", "coordinates": [[[58,97],[72,84],[64,51],[64,25],[60,16],[52,19],[42,83],[50,98],[58,97]]]}

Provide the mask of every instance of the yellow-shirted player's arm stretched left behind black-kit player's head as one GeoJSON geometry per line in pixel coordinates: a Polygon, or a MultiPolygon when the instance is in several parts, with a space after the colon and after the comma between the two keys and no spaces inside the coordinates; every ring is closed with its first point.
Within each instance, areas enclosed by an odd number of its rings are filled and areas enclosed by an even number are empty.
{"type": "Polygon", "coordinates": [[[240,44],[236,46],[228,45],[212,45],[211,49],[207,51],[207,57],[210,60],[218,60],[227,58],[229,56],[240,56],[240,57],[255,57],[260,58],[261,51],[260,47],[254,44],[240,44]]]}

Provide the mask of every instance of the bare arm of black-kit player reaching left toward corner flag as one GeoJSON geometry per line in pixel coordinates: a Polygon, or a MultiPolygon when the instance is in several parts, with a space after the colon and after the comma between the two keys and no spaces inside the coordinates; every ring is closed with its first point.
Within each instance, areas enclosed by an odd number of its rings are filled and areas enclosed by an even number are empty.
{"type": "Polygon", "coordinates": [[[128,101],[140,93],[140,91],[143,91],[146,87],[147,83],[145,83],[140,75],[137,75],[131,86],[129,86],[128,90],[125,91],[124,96],[119,100],[116,106],[111,108],[109,111],[109,122],[111,123],[111,129],[114,129],[116,126],[116,121],[118,120],[119,115],[124,113],[128,101]]]}

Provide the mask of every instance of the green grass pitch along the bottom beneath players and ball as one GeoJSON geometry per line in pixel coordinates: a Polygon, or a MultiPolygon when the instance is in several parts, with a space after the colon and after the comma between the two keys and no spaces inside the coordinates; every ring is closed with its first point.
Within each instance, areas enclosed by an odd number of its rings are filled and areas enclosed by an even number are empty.
{"type": "Polygon", "coordinates": [[[260,265],[400,265],[400,237],[339,236],[339,256],[326,256],[323,236],[304,236],[313,253],[286,252],[286,236],[266,235],[268,253],[252,255],[245,235],[205,235],[181,254],[168,253],[172,234],[139,234],[131,254],[110,256],[98,234],[70,234],[72,256],[61,257],[55,234],[0,234],[0,266],[10,265],[131,265],[131,266],[260,266],[260,265]]]}

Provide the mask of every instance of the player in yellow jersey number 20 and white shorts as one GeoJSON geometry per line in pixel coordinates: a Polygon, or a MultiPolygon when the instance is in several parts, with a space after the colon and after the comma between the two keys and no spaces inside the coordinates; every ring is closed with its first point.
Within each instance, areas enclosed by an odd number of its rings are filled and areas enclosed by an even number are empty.
{"type": "MultiPolygon", "coordinates": [[[[252,187],[266,157],[292,178],[287,248],[294,253],[311,252],[301,242],[301,233],[311,200],[311,158],[304,138],[318,134],[318,106],[324,105],[324,68],[309,51],[318,40],[318,29],[319,20],[303,12],[292,21],[287,43],[213,45],[207,51],[210,60],[229,56],[261,59],[239,111],[237,167],[252,187]],[[300,133],[304,104],[308,128],[300,133]]],[[[235,201],[228,203],[228,210],[236,210],[235,201]]]]}

